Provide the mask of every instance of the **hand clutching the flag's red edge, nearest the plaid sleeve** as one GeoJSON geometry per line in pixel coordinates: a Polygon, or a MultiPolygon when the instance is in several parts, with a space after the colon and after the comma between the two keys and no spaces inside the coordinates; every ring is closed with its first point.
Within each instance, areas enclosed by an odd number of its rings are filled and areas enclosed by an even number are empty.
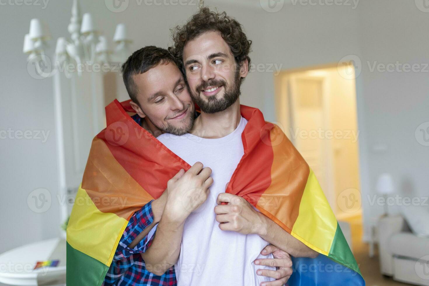
{"type": "Polygon", "coordinates": [[[211,169],[195,163],[187,172],[181,169],[167,182],[167,202],[164,214],[170,220],[184,222],[186,218],[202,205],[208,197],[213,184],[211,169]]]}

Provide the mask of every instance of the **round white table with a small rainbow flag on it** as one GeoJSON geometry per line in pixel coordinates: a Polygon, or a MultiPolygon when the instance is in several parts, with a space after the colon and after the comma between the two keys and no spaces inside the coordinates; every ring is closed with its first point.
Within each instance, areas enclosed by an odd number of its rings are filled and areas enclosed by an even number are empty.
{"type": "Polygon", "coordinates": [[[53,238],[0,254],[0,283],[23,286],[65,285],[66,241],[53,238]],[[56,259],[60,260],[57,267],[33,270],[37,261],[56,259]]]}

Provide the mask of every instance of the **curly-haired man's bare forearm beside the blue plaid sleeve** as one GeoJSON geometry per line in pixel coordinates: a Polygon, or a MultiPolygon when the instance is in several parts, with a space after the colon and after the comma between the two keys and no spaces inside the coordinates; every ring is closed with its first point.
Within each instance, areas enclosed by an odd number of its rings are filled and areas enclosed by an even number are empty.
{"type": "Polygon", "coordinates": [[[171,268],[178,260],[184,220],[176,220],[164,213],[158,223],[152,244],[142,253],[146,269],[158,276],[171,268]]]}

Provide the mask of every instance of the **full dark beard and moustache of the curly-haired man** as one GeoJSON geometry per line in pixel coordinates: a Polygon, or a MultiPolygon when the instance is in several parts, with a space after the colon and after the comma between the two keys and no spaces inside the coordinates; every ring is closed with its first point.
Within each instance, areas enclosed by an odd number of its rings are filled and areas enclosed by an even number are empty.
{"type": "Polygon", "coordinates": [[[216,113],[226,110],[228,107],[234,104],[239,99],[241,94],[240,91],[240,69],[236,70],[234,75],[234,81],[230,85],[227,84],[223,79],[213,79],[211,81],[205,81],[199,84],[195,90],[190,90],[188,87],[192,100],[199,106],[201,111],[205,113],[216,113]],[[201,91],[209,86],[223,86],[225,89],[224,96],[222,98],[216,98],[216,96],[209,96],[206,99],[202,98],[201,91]]]}

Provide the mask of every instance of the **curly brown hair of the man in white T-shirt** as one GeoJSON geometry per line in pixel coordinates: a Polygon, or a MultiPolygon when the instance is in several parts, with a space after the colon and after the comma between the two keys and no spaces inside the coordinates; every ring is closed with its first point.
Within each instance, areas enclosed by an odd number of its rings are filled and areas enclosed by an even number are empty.
{"type": "Polygon", "coordinates": [[[208,7],[202,7],[192,15],[186,24],[171,29],[174,47],[170,47],[169,51],[176,57],[183,73],[185,72],[182,59],[184,46],[199,35],[210,31],[221,33],[239,66],[246,59],[248,67],[250,66],[249,52],[252,41],[247,39],[242,25],[228,16],[226,12],[213,12],[208,7]]]}

